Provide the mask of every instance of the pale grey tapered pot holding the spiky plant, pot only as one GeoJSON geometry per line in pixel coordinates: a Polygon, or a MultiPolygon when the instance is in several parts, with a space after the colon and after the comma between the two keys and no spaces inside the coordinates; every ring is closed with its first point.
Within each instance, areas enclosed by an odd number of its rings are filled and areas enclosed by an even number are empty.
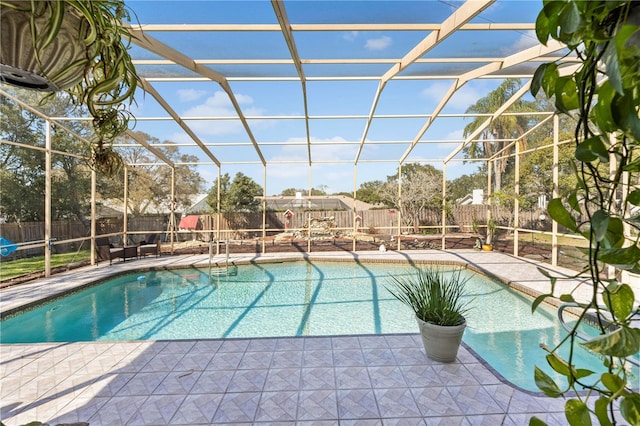
{"type": "Polygon", "coordinates": [[[416,317],[422,344],[427,356],[438,362],[453,362],[458,355],[466,321],[460,325],[443,326],[422,321],[416,317]]]}

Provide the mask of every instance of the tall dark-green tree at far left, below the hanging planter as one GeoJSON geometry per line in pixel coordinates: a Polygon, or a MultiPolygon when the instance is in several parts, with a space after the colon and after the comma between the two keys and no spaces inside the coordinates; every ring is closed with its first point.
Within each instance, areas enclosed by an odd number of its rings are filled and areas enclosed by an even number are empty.
{"type": "MultiPolygon", "coordinates": [[[[38,102],[32,92],[21,95],[29,102],[38,102]]],[[[50,116],[73,116],[78,114],[76,106],[68,97],[55,96],[40,107],[50,116]]],[[[45,122],[28,110],[23,110],[8,98],[0,98],[2,126],[0,137],[7,141],[25,145],[43,146],[45,122]]],[[[88,132],[86,122],[67,122],[66,127],[80,135],[88,132]]],[[[72,155],[52,156],[52,218],[70,218],[88,224],[90,201],[90,170],[87,160],[82,158],[89,152],[88,144],[53,126],[52,147],[56,151],[72,155]]],[[[0,146],[2,185],[0,205],[2,215],[9,221],[44,220],[44,154],[41,151],[2,144],[0,146]]]]}

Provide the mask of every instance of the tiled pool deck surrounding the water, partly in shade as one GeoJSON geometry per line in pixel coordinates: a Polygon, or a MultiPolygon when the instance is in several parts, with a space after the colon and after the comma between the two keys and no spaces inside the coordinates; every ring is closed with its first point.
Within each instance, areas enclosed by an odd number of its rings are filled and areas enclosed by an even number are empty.
{"type": "MultiPolygon", "coordinates": [[[[302,256],[237,255],[231,260],[302,256]]],[[[461,262],[534,291],[549,289],[537,270],[540,264],[502,253],[310,256],[461,262]]],[[[86,267],[2,289],[0,310],[118,272],[207,262],[206,255],[165,256],[86,267]]],[[[504,383],[466,347],[454,363],[431,361],[417,334],[0,345],[0,377],[0,419],[7,426],[34,420],[92,426],[523,425],[534,415],[551,425],[566,424],[563,400],[504,383]]]]}

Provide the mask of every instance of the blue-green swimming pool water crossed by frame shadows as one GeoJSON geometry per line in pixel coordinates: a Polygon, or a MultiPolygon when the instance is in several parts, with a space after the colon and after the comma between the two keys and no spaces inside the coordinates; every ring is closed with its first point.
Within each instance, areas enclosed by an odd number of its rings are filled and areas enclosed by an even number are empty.
{"type": "MultiPolygon", "coordinates": [[[[0,342],[416,333],[413,312],[385,287],[391,276],[414,272],[408,265],[285,262],[242,265],[229,276],[206,268],[135,273],[3,320],[0,342]]],[[[532,315],[530,300],[464,273],[473,298],[465,343],[512,383],[537,390],[533,366],[547,365],[539,343],[554,347],[565,335],[554,314],[532,315]]],[[[579,356],[576,364],[602,368],[592,355],[579,356]]]]}

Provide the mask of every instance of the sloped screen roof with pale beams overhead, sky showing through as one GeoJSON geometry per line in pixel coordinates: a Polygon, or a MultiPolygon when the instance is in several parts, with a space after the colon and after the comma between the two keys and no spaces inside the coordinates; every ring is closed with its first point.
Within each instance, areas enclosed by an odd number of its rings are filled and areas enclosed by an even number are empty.
{"type": "Polygon", "coordinates": [[[349,191],[410,162],[455,177],[467,108],[505,78],[530,96],[535,68],[565,53],[538,43],[539,1],[127,4],[135,130],[194,156],[209,182],[241,171],[268,194],[349,191]]]}

